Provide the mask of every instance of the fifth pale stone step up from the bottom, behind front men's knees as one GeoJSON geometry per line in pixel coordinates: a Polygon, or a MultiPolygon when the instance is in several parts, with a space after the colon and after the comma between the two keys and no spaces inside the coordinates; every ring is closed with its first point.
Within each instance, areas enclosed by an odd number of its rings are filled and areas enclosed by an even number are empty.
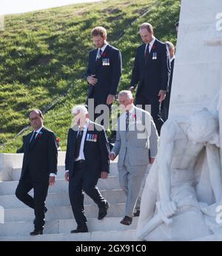
{"type": "MultiPolygon", "coordinates": [[[[16,188],[19,181],[4,181],[0,183],[0,195],[10,195],[15,194],[16,188]]],[[[107,179],[98,180],[98,188],[100,190],[107,189],[119,189],[118,176],[109,176],[107,179]]],[[[55,186],[49,187],[49,193],[57,192],[67,192],[68,193],[68,183],[64,179],[55,180],[55,186]]]]}

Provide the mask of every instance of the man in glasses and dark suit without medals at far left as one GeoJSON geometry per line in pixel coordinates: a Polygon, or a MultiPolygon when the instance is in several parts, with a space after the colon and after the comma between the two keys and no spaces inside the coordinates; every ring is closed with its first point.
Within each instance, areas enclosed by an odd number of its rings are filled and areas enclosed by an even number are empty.
{"type": "Polygon", "coordinates": [[[55,184],[57,157],[55,134],[44,128],[40,110],[30,112],[30,124],[34,131],[24,140],[24,158],[16,197],[35,211],[35,229],[30,235],[43,234],[45,200],[48,187],[55,184]],[[34,197],[28,192],[33,188],[34,197]]]}

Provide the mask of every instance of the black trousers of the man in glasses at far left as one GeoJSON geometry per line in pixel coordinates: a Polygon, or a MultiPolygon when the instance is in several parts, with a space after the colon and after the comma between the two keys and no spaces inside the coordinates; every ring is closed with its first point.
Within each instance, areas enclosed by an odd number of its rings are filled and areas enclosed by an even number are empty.
{"type": "Polygon", "coordinates": [[[34,209],[36,219],[34,221],[36,230],[44,229],[44,208],[47,192],[49,188],[49,180],[44,180],[41,183],[36,183],[30,177],[26,175],[23,180],[19,180],[19,185],[16,188],[16,197],[21,200],[22,203],[30,206],[34,209]],[[33,188],[34,197],[31,197],[28,192],[33,188]]]}

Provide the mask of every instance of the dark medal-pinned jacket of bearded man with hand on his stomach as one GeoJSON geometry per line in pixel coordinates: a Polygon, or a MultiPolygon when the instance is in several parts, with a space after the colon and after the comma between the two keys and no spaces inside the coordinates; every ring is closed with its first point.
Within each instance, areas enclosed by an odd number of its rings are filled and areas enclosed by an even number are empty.
{"type": "Polygon", "coordinates": [[[98,104],[106,104],[108,94],[115,95],[118,89],[118,83],[121,78],[121,52],[107,45],[101,58],[95,61],[98,48],[90,51],[87,75],[95,75],[98,79],[96,85],[89,85],[88,98],[95,99],[98,104]],[[103,65],[109,60],[110,65],[103,65]]]}

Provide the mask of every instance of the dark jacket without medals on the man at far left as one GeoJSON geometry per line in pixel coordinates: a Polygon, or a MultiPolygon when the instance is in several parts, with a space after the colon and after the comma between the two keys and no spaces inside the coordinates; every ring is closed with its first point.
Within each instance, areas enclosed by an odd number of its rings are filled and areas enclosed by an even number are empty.
{"type": "Polygon", "coordinates": [[[30,138],[33,132],[24,140],[24,157],[21,169],[21,178],[27,171],[35,182],[44,182],[49,179],[50,173],[57,173],[57,157],[55,134],[47,128],[41,129],[32,147],[30,138]]]}

